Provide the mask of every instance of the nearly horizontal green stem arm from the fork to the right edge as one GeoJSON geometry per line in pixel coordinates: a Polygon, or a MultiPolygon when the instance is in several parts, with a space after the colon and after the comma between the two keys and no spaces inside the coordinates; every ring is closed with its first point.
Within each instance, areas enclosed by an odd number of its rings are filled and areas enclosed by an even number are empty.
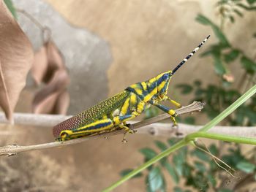
{"type": "Polygon", "coordinates": [[[225,142],[236,142],[241,144],[256,145],[256,139],[254,138],[228,136],[223,134],[214,134],[214,133],[207,133],[207,132],[200,132],[200,131],[187,135],[187,137],[185,137],[185,140],[187,142],[190,142],[198,137],[208,138],[208,139],[217,139],[225,142]]]}

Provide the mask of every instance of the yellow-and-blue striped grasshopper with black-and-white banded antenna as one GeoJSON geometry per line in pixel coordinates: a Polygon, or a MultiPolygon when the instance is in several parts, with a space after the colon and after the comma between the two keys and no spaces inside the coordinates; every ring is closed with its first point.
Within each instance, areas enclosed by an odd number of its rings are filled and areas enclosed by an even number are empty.
{"type": "MultiPolygon", "coordinates": [[[[206,37],[206,39],[172,71],[163,72],[158,74],[157,77],[130,85],[121,93],[117,93],[88,110],[64,120],[53,127],[53,136],[56,137],[58,141],[65,141],[86,137],[91,134],[101,134],[103,132],[116,130],[117,128],[124,128],[126,133],[134,133],[126,123],[127,120],[137,117],[146,110],[146,108],[151,107],[151,105],[167,112],[173,121],[173,126],[176,126],[176,111],[160,104],[160,101],[167,100],[176,107],[181,107],[181,104],[167,96],[170,79],[173,77],[173,74],[197,52],[209,37],[210,36],[206,37]]],[[[125,141],[124,137],[123,142],[125,141]]]]}

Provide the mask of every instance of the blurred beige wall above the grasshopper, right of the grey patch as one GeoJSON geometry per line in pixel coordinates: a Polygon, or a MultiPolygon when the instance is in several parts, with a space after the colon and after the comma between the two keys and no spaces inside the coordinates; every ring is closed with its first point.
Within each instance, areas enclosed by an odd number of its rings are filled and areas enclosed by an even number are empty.
{"type": "MultiPolygon", "coordinates": [[[[113,63],[108,69],[109,95],[134,82],[147,80],[160,72],[173,69],[201,40],[208,34],[213,34],[210,27],[195,21],[198,13],[203,13],[219,23],[217,10],[213,9],[216,1],[48,2],[70,23],[84,27],[109,42],[113,54],[113,63]]],[[[252,23],[255,23],[252,15],[245,15],[242,22],[241,18],[236,20],[236,24],[227,25],[228,39],[241,49],[255,49],[255,45],[249,42],[253,31],[252,23]]],[[[200,52],[216,41],[212,36],[200,52]]],[[[230,71],[239,80],[240,67],[230,71]]],[[[172,81],[176,84],[191,82],[197,78],[206,83],[217,82],[211,58],[195,55],[172,81]]]]}

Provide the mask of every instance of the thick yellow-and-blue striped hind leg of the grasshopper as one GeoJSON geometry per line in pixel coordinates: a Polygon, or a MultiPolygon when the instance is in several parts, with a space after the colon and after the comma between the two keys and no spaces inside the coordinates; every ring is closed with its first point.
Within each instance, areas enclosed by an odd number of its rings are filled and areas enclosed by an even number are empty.
{"type": "Polygon", "coordinates": [[[94,123],[89,123],[86,126],[81,126],[80,128],[61,131],[56,140],[65,141],[85,137],[90,134],[99,134],[101,131],[110,130],[110,128],[113,128],[113,126],[113,120],[110,118],[105,118],[102,120],[97,120],[94,123]]]}

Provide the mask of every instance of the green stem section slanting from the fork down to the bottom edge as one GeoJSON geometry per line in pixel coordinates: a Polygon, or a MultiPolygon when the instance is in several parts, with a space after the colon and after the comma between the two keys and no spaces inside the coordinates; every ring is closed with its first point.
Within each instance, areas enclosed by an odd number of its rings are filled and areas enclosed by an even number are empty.
{"type": "Polygon", "coordinates": [[[177,142],[175,145],[173,145],[172,147],[170,147],[167,150],[163,151],[159,155],[155,156],[154,158],[151,158],[151,160],[147,161],[145,164],[142,164],[137,169],[133,170],[132,172],[129,172],[129,174],[127,174],[124,177],[122,177],[116,183],[113,183],[113,185],[110,185],[110,187],[105,188],[102,192],[112,191],[118,185],[121,185],[121,183],[124,183],[125,181],[129,180],[130,178],[132,178],[135,174],[138,174],[139,172],[141,172],[144,169],[146,169],[148,166],[151,166],[151,164],[154,164],[157,161],[159,161],[159,159],[164,158],[167,155],[170,155],[170,153],[172,153],[173,151],[178,150],[181,147],[184,147],[185,145],[187,145],[187,142],[185,142],[185,140],[182,139],[181,141],[177,142]]]}

